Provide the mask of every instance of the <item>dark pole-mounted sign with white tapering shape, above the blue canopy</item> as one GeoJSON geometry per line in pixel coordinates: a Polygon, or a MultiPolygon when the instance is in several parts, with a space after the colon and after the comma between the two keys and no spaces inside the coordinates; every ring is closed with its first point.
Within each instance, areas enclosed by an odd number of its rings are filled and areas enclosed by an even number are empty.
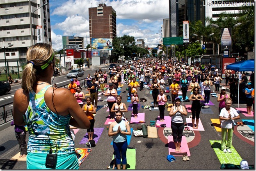
{"type": "Polygon", "coordinates": [[[231,40],[231,28],[222,28],[221,29],[221,49],[229,50],[232,49],[232,40],[231,40]]]}

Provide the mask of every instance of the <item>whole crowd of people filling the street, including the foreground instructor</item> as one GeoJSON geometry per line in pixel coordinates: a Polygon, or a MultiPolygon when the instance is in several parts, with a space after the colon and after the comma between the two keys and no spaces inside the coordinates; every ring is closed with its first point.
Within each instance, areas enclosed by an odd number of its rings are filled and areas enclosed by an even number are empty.
{"type": "MultiPolygon", "coordinates": [[[[131,131],[124,115],[124,112],[128,112],[127,107],[125,103],[121,102],[121,95],[117,93],[117,89],[122,82],[126,82],[128,85],[127,97],[131,100],[133,117],[135,118],[138,115],[138,91],[145,91],[145,88],[152,91],[153,106],[154,109],[159,109],[161,122],[164,121],[165,108],[168,105],[168,98],[164,93],[167,90],[171,92],[172,106],[169,116],[171,117],[171,129],[176,152],[181,151],[181,136],[183,130],[187,129],[185,119],[187,109],[181,102],[186,99],[192,101],[192,125],[194,129],[197,129],[201,102],[206,105],[209,104],[210,92],[213,90],[211,86],[214,82],[222,127],[221,150],[231,153],[233,120],[240,117],[231,108],[232,97],[235,96],[232,94],[230,98],[226,94],[225,87],[222,87],[219,92],[219,84],[222,78],[218,75],[217,67],[212,70],[210,64],[205,65],[203,63],[201,65],[196,63],[195,65],[189,65],[183,61],[146,58],[113,67],[109,71],[109,75],[100,68],[95,71],[94,78],[90,74],[86,78],[87,90],[90,95],[87,98],[85,98],[77,78],[70,80],[71,83],[67,89],[51,85],[50,80],[54,67],[55,58],[50,45],[37,43],[30,47],[27,52],[27,65],[23,71],[22,88],[16,91],[14,95],[14,124],[17,126],[27,125],[30,137],[27,152],[23,152],[24,145],[20,147],[21,157],[27,155],[27,169],[50,167],[46,164],[48,154],[58,156],[54,169],[79,168],[69,126],[87,129],[88,141],[93,139],[94,114],[97,110],[99,90],[101,90],[101,95],[106,97],[107,106],[110,109],[109,117],[112,123],[108,135],[113,138],[117,169],[121,168],[121,158],[122,168],[125,169],[126,135],[130,135],[131,131]],[[179,90],[182,92],[182,98],[178,97],[179,90]],[[188,90],[190,90],[189,98],[187,97],[188,90]],[[69,101],[66,99],[69,99],[69,101]],[[226,134],[228,134],[227,144],[225,144],[226,134]],[[40,139],[45,139],[45,141],[41,142],[40,139]],[[67,143],[68,146],[65,145],[67,143]]],[[[241,82],[246,82],[245,78],[241,82]]],[[[227,81],[230,86],[236,86],[237,83],[233,75],[227,81]]],[[[254,88],[252,88],[250,82],[243,88],[245,89],[247,110],[250,115],[251,106],[254,104],[252,99],[254,88]]],[[[185,157],[184,161],[189,160],[187,156],[183,157],[185,157]]]]}

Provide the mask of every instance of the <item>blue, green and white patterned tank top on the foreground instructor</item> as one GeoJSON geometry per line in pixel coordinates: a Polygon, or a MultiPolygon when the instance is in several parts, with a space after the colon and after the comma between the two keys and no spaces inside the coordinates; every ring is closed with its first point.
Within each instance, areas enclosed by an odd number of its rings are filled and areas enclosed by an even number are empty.
{"type": "Polygon", "coordinates": [[[62,116],[52,112],[44,100],[46,90],[51,87],[44,87],[37,94],[30,92],[30,101],[23,115],[29,132],[27,152],[53,153],[57,148],[58,153],[74,153],[75,145],[72,139],[69,120],[71,115],[62,116]]]}

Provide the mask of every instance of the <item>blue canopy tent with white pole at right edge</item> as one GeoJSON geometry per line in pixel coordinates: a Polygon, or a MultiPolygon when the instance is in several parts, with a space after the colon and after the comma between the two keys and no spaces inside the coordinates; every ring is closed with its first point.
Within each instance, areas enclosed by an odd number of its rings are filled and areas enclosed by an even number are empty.
{"type": "MultiPolygon", "coordinates": [[[[254,71],[254,59],[246,60],[246,61],[239,61],[232,63],[230,65],[227,65],[227,70],[234,70],[234,71],[254,71]]],[[[238,77],[238,83],[240,83],[240,77],[238,77]]],[[[238,108],[239,108],[239,85],[238,84],[238,108]]]]}

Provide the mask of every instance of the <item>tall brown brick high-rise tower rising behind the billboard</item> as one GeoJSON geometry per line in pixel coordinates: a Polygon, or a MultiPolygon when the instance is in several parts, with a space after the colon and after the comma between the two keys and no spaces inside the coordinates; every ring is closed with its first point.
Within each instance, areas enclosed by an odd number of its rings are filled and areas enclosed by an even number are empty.
{"type": "Polygon", "coordinates": [[[89,8],[89,31],[91,38],[115,38],[117,37],[116,11],[106,4],[98,4],[98,7],[89,8]]]}

